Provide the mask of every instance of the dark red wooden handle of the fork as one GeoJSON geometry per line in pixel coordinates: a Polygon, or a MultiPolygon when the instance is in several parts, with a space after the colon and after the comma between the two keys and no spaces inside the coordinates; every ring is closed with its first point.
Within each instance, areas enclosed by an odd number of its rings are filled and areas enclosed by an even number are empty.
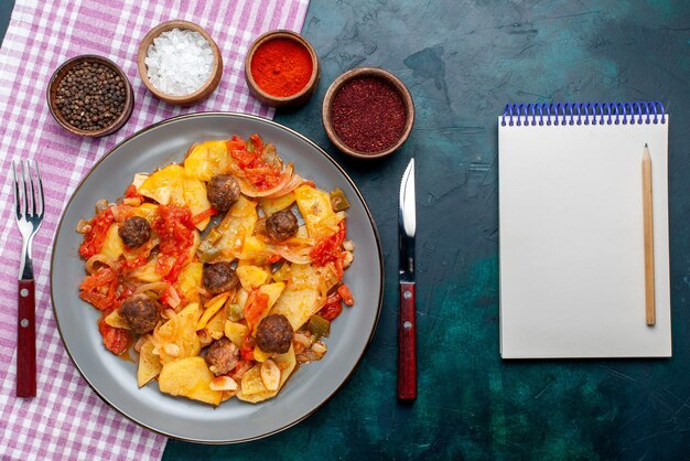
{"type": "Polygon", "coordinates": [[[20,280],[17,323],[17,396],[36,396],[36,323],[33,280],[20,280]]]}

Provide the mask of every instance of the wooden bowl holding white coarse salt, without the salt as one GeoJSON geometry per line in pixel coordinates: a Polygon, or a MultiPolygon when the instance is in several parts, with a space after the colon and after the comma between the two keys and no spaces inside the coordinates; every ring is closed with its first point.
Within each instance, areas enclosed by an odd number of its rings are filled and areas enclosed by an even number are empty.
{"type": "Polygon", "coordinates": [[[202,100],[211,96],[211,94],[218,86],[218,83],[220,83],[220,77],[223,76],[223,57],[220,56],[220,50],[218,50],[218,45],[216,45],[216,42],[211,37],[211,35],[208,35],[208,32],[206,32],[203,28],[190,21],[174,20],[163,22],[151,29],[149,33],[147,33],[147,35],[139,44],[139,53],[137,54],[137,67],[139,68],[139,76],[141,77],[141,81],[157,98],[175,106],[192,106],[194,104],[201,103],[202,100]],[[147,58],[147,54],[149,53],[149,46],[153,43],[153,39],[157,39],[163,32],[172,31],[173,29],[198,32],[204,36],[204,39],[206,39],[213,52],[214,64],[208,81],[206,81],[206,83],[196,92],[183,96],[169,95],[154,87],[149,79],[149,67],[144,62],[147,58]]]}

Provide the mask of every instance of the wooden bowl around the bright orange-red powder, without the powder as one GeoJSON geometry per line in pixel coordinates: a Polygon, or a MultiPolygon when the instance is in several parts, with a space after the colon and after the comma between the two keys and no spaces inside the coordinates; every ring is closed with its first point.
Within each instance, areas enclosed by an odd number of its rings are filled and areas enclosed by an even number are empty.
{"type": "Polygon", "coordinates": [[[245,78],[247,79],[247,85],[249,86],[249,90],[251,94],[259,99],[261,103],[284,109],[291,109],[299,107],[306,103],[309,98],[312,97],[314,90],[319,86],[319,78],[321,76],[321,68],[319,66],[319,56],[314,51],[314,47],[309,43],[306,39],[304,39],[299,33],[288,31],[288,30],[277,30],[270,31],[260,35],[252,44],[249,46],[249,52],[247,52],[247,57],[245,58],[245,78]],[[303,46],[312,58],[312,75],[304,86],[299,93],[295,93],[291,96],[278,97],[266,93],[263,89],[257,85],[254,76],[251,75],[251,60],[254,58],[257,50],[267,42],[276,39],[287,39],[292,40],[293,42],[303,46]]]}

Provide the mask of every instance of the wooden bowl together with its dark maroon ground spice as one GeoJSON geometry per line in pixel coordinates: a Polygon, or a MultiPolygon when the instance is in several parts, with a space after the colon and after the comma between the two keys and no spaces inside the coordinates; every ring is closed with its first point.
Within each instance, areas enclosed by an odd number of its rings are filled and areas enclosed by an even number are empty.
{"type": "Polygon", "coordinates": [[[414,124],[405,84],[388,71],[359,67],[337,77],[323,100],[323,126],[341,151],[375,159],[398,150],[414,124]]]}

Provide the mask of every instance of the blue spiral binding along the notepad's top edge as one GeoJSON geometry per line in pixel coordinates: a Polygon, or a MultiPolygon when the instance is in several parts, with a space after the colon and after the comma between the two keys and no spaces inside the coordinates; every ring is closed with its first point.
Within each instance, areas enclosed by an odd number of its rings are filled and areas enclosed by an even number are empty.
{"type": "Polygon", "coordinates": [[[666,124],[666,109],[664,104],[658,100],[635,103],[507,104],[500,118],[500,125],[504,127],[583,124],[666,124]]]}

